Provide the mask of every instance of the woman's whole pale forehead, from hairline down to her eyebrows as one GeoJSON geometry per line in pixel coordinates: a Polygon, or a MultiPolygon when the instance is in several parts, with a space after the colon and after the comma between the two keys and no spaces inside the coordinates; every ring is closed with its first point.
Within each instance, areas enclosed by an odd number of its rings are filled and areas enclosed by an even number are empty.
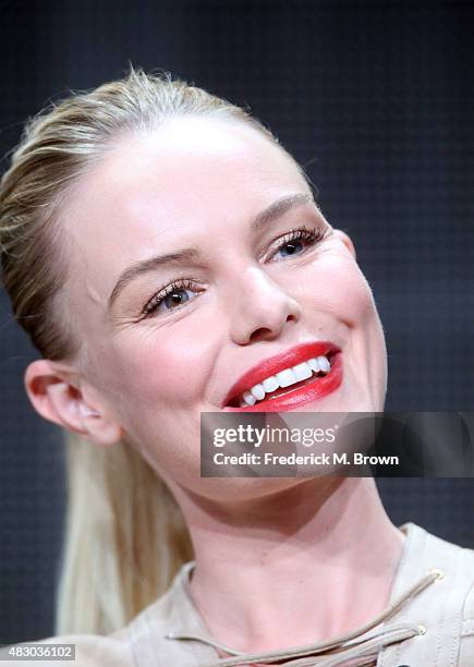
{"type": "Polygon", "coordinates": [[[293,161],[257,130],[186,118],[116,141],[74,189],[64,216],[71,264],[102,301],[150,251],[244,223],[277,198],[308,192],[293,161]]]}

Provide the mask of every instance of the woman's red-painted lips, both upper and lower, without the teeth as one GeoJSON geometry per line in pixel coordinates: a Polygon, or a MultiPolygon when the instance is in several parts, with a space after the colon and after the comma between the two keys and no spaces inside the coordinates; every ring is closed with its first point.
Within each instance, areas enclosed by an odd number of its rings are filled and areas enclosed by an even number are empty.
{"type": "Polygon", "coordinates": [[[340,349],[331,342],[303,343],[292,348],[283,354],[278,354],[253,366],[247,371],[228,391],[222,408],[231,412],[283,412],[296,409],[300,405],[315,401],[317,399],[336,391],[342,383],[342,360],[340,349]],[[285,393],[275,398],[265,398],[255,405],[244,405],[243,408],[232,408],[229,402],[254,385],[263,381],[270,375],[276,375],[284,368],[295,366],[313,356],[328,356],[331,363],[330,372],[324,377],[313,376],[304,380],[305,384],[296,387],[287,388],[285,393]]]}

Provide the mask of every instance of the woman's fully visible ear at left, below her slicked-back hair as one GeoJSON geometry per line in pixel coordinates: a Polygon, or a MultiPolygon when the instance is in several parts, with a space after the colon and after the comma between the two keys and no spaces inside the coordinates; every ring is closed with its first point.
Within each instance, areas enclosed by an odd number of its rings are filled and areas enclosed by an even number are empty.
{"type": "MultiPolygon", "coordinates": [[[[77,375],[56,362],[39,359],[25,371],[24,385],[29,401],[38,414],[78,433],[98,445],[109,446],[122,437],[122,427],[106,404],[96,398],[85,398],[77,388],[77,375]],[[94,402],[93,402],[94,401],[94,402]]],[[[93,396],[92,388],[87,392],[93,396]]]]}

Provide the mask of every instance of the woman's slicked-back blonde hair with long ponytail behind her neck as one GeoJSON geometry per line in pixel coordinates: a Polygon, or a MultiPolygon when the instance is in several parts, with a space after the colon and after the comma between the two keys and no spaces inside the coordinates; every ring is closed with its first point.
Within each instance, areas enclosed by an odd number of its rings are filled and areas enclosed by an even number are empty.
{"type": "MultiPolygon", "coordinates": [[[[44,359],[76,360],[81,352],[62,289],[60,213],[69,187],[123,132],[187,114],[250,124],[284,150],[246,110],[169,73],[132,66],[124,78],[73,94],[26,123],[0,182],[0,251],[14,317],[44,359]]],[[[108,634],[168,589],[193,557],[191,539],[167,486],[133,447],[102,449],[64,436],[69,497],[56,632],[108,634]]]]}

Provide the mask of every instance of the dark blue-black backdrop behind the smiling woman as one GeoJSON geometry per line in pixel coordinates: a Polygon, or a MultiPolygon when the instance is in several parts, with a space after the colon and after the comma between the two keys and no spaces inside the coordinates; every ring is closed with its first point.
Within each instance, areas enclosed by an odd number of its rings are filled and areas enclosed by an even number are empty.
{"type": "MultiPolygon", "coordinates": [[[[386,329],[388,410],[473,410],[473,5],[0,2],[0,149],[68,89],[131,61],[248,104],[355,241],[386,329]]],[[[3,167],[7,162],[3,163],[3,167]]],[[[0,296],[0,644],[52,633],[61,434],[29,405],[37,356],[0,296]]],[[[397,524],[474,547],[473,480],[378,480],[397,524]]]]}

